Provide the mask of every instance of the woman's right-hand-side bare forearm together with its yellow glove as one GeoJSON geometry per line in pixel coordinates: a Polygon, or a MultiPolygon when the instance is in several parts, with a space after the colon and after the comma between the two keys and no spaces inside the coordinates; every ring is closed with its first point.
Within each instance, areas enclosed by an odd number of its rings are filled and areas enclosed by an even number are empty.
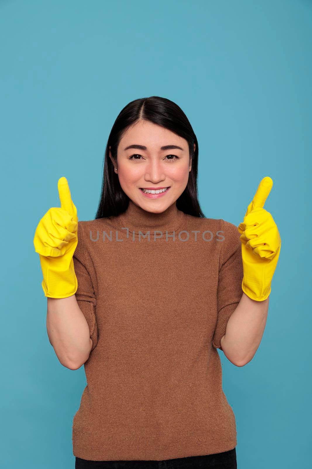
{"type": "Polygon", "coordinates": [[[273,181],[264,177],[239,224],[243,262],[243,295],[232,313],[221,347],[237,366],[250,362],[256,353],[268,317],[271,281],[281,249],[281,236],[272,215],[263,205],[273,181]]]}

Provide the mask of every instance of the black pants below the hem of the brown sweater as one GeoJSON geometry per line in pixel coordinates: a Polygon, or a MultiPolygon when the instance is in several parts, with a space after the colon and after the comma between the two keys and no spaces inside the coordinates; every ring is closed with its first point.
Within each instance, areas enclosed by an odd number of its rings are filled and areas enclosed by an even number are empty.
{"type": "Polygon", "coordinates": [[[164,461],[87,461],[76,457],[75,469],[237,469],[236,448],[164,461]]]}

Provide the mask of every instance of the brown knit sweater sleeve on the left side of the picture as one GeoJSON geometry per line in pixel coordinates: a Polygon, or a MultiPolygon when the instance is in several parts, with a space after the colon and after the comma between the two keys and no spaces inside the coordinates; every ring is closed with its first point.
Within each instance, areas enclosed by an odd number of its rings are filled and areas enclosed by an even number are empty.
{"type": "Polygon", "coordinates": [[[78,281],[78,287],[75,296],[80,310],[87,320],[90,330],[90,339],[92,340],[93,344],[91,350],[93,350],[97,344],[98,339],[98,329],[95,316],[96,297],[94,294],[92,279],[85,259],[86,256],[83,245],[83,229],[80,225],[80,221],[78,221],[77,236],[78,243],[73,254],[73,264],[78,281]]]}

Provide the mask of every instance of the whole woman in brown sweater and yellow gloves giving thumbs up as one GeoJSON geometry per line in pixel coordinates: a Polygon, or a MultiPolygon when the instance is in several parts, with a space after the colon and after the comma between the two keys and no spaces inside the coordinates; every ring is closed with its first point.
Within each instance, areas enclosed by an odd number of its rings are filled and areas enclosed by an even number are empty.
{"type": "Polygon", "coordinates": [[[78,221],[62,177],[61,208],[36,229],[49,339],[87,377],[76,468],[237,467],[217,348],[237,366],[254,355],[280,238],[264,183],[239,229],[205,218],[197,159],[179,106],[132,101],[109,135],[95,219],[78,221]]]}

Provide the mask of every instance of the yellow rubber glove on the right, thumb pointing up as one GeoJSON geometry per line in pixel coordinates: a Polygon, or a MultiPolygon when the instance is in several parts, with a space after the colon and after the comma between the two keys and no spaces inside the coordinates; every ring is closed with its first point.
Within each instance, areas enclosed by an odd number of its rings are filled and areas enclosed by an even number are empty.
{"type": "Polygon", "coordinates": [[[281,237],[272,215],[263,205],[273,181],[264,177],[239,224],[244,277],[242,290],[252,300],[264,301],[271,293],[271,281],[281,249],[281,237]]]}

